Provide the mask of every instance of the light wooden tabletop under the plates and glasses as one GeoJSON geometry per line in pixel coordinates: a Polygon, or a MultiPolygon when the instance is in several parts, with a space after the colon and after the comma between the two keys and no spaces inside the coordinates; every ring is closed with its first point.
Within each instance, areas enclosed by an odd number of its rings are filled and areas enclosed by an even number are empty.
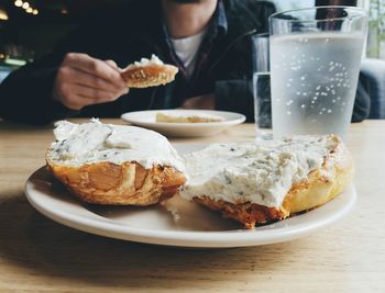
{"type": "MultiPolygon", "coordinates": [[[[244,124],[178,142],[245,140],[253,133],[244,124]]],[[[359,201],[346,218],[289,243],[218,250],[103,238],[38,214],[24,183],[44,165],[52,139],[52,127],[0,122],[1,293],[385,292],[385,121],[351,127],[359,201]]]]}

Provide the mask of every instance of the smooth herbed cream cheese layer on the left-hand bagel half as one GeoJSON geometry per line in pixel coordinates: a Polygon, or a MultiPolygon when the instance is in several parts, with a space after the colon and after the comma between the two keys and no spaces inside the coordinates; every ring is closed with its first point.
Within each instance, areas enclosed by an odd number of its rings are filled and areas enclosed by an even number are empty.
{"type": "Polygon", "coordinates": [[[100,161],[117,165],[136,161],[150,169],[154,165],[184,171],[184,164],[163,135],[135,126],[102,124],[98,120],[74,124],[55,124],[56,142],[48,159],[58,165],[81,166],[100,161]]]}

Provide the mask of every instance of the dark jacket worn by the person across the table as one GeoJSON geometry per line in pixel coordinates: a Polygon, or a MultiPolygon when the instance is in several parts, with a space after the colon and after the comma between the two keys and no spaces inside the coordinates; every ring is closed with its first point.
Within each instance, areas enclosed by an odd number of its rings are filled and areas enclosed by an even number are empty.
{"type": "MultiPolygon", "coordinates": [[[[167,36],[160,1],[131,1],[81,25],[52,54],[11,74],[0,84],[0,116],[35,124],[68,116],[120,116],[129,111],[178,108],[190,97],[215,93],[217,110],[240,112],[252,121],[251,35],[267,31],[267,18],[274,10],[264,1],[219,1],[198,52],[195,72],[187,78],[167,36]],[[57,69],[69,52],[112,59],[120,67],[155,54],[163,61],[177,65],[180,72],[164,87],[131,89],[114,102],[70,111],[52,97],[57,69]]],[[[360,105],[365,103],[361,101],[360,105]]],[[[358,120],[365,117],[363,113],[358,120]]]]}

